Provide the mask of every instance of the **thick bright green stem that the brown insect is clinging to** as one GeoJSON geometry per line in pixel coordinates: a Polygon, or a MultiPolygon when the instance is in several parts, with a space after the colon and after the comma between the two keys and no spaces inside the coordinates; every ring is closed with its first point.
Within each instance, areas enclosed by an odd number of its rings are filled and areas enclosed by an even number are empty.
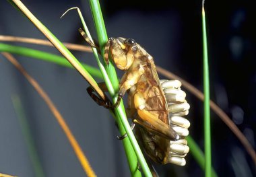
{"type": "MultiPolygon", "coordinates": [[[[100,4],[97,0],[90,0],[90,7],[92,9],[92,15],[94,17],[94,24],[96,26],[96,32],[98,34],[98,40],[100,45],[100,50],[102,56],[104,56],[104,46],[108,41],[108,36],[106,35],[106,29],[104,26],[104,20],[102,17],[102,13],[100,10],[100,4]]],[[[107,83],[108,88],[113,85],[114,90],[109,90],[110,96],[113,98],[113,102],[117,100],[117,93],[119,91],[119,80],[117,78],[117,73],[115,71],[115,67],[113,63],[110,62],[109,65],[105,65],[106,72],[108,73],[108,77],[110,78],[111,83],[107,83]]],[[[141,176],[141,173],[137,169],[137,160],[139,160],[139,164],[145,174],[145,176],[152,176],[150,169],[148,168],[148,164],[146,163],[145,158],[139,148],[137,140],[131,131],[131,127],[129,122],[127,121],[127,117],[125,114],[125,108],[123,106],[123,102],[121,102],[118,108],[115,108],[115,114],[117,115],[117,124],[119,125],[119,130],[121,134],[127,133],[129,139],[123,139],[123,145],[125,147],[125,153],[127,155],[127,161],[129,163],[129,168],[132,176],[141,176]]]]}

